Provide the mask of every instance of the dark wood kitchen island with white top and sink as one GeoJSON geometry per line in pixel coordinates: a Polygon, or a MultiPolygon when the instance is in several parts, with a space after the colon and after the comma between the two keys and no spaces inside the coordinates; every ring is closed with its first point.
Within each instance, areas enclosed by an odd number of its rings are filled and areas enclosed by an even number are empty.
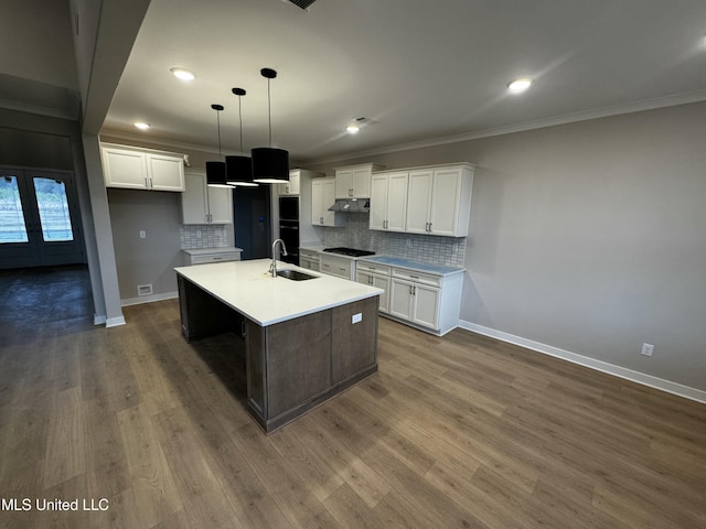
{"type": "Polygon", "coordinates": [[[270,259],[176,268],[186,339],[245,339],[248,410],[266,432],[377,370],[381,289],[277,262],[313,279],[269,273],[270,259]]]}

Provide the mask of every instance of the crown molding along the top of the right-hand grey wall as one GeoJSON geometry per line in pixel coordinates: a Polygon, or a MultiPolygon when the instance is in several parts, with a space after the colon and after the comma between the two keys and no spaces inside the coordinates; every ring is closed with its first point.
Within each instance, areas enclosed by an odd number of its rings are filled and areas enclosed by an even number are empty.
{"type": "Polygon", "coordinates": [[[379,149],[368,149],[359,152],[349,152],[342,155],[335,155],[324,159],[308,159],[304,163],[328,164],[339,163],[345,160],[360,159],[365,156],[376,156],[381,154],[389,154],[393,152],[408,151],[411,149],[422,149],[427,147],[446,145],[449,143],[459,143],[462,141],[479,140],[482,138],[491,138],[494,136],[512,134],[515,132],[525,132],[528,130],[544,129],[546,127],[555,127],[558,125],[568,125],[578,121],[588,121],[591,119],[608,118],[611,116],[620,116],[625,114],[642,112],[645,110],[656,110],[659,108],[675,107],[678,105],[688,105],[706,100],[706,90],[689,91],[684,94],[674,94],[670,96],[655,97],[624,105],[612,105],[580,112],[554,116],[550,118],[535,119],[522,123],[507,125],[503,127],[494,127],[462,134],[446,136],[432,138],[429,140],[415,141],[409,143],[398,143],[395,145],[382,147],[379,149]]]}

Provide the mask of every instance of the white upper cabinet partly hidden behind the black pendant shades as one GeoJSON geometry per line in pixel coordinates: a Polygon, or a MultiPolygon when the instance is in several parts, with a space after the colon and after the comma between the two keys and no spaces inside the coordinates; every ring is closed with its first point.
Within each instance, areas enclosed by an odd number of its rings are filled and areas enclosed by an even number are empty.
{"type": "Polygon", "coordinates": [[[233,190],[208,187],[206,174],[186,171],[181,195],[182,224],[233,224],[233,190]]]}

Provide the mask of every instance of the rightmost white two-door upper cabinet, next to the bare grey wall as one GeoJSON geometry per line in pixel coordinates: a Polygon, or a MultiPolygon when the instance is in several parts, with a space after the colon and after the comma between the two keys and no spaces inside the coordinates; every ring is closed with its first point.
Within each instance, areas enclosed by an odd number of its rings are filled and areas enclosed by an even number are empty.
{"type": "Polygon", "coordinates": [[[471,164],[410,171],[405,230],[448,237],[468,236],[472,187],[471,164]]]}

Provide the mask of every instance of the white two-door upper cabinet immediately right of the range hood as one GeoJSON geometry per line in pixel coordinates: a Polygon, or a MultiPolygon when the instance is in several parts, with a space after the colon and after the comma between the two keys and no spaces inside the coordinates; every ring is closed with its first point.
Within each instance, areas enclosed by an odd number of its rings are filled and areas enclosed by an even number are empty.
{"type": "Polygon", "coordinates": [[[377,173],[371,184],[370,228],[404,231],[407,218],[407,172],[377,173]]]}

